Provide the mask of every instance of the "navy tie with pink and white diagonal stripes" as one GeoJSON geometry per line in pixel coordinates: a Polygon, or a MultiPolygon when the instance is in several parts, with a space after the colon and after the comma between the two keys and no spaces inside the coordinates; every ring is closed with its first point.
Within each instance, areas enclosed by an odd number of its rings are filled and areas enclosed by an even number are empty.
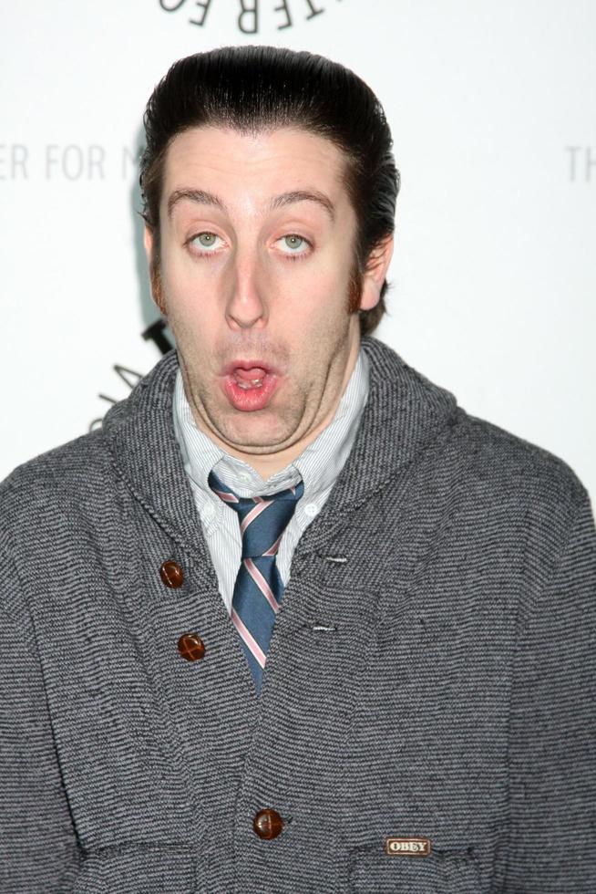
{"type": "Polygon", "coordinates": [[[283,598],[277,550],[304,485],[300,482],[267,497],[240,497],[211,472],[209,486],[238,514],[240,522],[242,556],[231,599],[231,619],[240,633],[258,693],[273,623],[283,598]]]}

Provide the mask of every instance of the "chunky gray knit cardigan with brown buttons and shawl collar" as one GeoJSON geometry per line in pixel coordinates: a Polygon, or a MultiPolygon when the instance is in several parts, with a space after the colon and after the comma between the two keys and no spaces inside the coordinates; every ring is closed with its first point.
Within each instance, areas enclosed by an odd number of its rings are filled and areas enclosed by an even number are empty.
{"type": "Polygon", "coordinates": [[[596,891],[588,494],[364,347],[259,699],[172,431],[175,353],[0,486],[3,894],[596,891]]]}

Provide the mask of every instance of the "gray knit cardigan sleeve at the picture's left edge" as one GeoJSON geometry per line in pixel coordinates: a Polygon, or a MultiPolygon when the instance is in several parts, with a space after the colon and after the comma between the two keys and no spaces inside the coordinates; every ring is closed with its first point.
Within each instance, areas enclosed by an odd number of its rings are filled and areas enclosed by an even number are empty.
{"type": "Polygon", "coordinates": [[[0,891],[68,890],[78,864],[35,637],[0,544],[0,891]]]}

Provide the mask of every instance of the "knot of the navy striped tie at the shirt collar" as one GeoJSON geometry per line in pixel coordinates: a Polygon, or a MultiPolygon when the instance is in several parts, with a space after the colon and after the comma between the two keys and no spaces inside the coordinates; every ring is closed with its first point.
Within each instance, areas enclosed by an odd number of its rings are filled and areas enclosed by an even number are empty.
{"type": "Polygon", "coordinates": [[[210,473],[208,481],[213,493],[238,515],[242,558],[275,556],[283,532],[304,493],[303,482],[271,496],[242,497],[221,483],[213,472],[210,473]]]}

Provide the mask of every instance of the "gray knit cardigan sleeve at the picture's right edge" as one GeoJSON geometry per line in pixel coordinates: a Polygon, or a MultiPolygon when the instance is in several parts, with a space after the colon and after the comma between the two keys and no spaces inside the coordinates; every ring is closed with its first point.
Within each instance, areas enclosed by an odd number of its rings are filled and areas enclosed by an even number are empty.
{"type": "Polygon", "coordinates": [[[511,894],[596,891],[596,532],[582,492],[549,579],[536,596],[522,594],[509,743],[511,894]]]}

